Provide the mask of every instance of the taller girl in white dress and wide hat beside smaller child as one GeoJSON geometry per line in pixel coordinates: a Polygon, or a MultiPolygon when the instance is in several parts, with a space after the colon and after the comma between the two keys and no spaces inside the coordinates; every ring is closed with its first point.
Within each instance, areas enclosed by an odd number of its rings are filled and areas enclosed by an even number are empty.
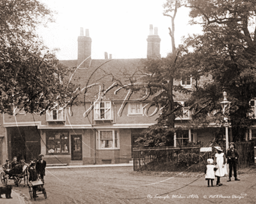
{"type": "Polygon", "coordinates": [[[222,184],[220,183],[220,177],[225,176],[225,166],[224,164],[226,163],[226,158],[223,150],[221,150],[220,147],[215,147],[217,150],[217,153],[215,154],[214,160],[217,163],[218,170],[215,172],[215,176],[217,177],[217,186],[221,186],[222,184]]]}

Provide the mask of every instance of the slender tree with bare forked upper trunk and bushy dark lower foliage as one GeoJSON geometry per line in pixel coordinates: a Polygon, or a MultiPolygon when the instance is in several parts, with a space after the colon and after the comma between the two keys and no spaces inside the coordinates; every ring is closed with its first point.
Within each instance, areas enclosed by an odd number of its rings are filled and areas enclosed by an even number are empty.
{"type": "Polygon", "coordinates": [[[163,15],[171,18],[169,34],[172,38],[172,53],[162,59],[148,59],[145,66],[140,70],[144,76],[141,78],[151,89],[152,105],[161,110],[157,118],[157,124],[150,126],[138,142],[144,146],[173,145],[173,134],[175,133],[175,118],[182,114],[182,106],[174,102],[175,92],[188,94],[188,90],[181,85],[175,85],[175,80],[180,80],[186,75],[186,71],[180,66],[179,51],[175,47],[175,17],[177,11],[184,1],[168,0],[163,5],[163,15]]]}

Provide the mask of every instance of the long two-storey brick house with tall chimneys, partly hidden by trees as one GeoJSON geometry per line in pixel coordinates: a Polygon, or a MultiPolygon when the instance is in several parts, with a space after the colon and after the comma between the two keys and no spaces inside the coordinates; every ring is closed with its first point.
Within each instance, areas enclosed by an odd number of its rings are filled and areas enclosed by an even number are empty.
{"type": "MultiPolygon", "coordinates": [[[[147,56],[160,57],[160,41],[157,28],[150,25],[147,38],[147,56]]],[[[65,66],[77,67],[70,80],[77,80],[81,93],[76,105],[65,109],[56,109],[46,115],[32,115],[20,110],[17,115],[3,114],[0,117],[0,164],[6,158],[17,156],[19,159],[36,158],[45,155],[47,164],[102,164],[127,163],[132,159],[134,140],[143,129],[156,123],[157,114],[145,109],[150,98],[136,101],[139,94],[132,94],[127,100],[128,91],[113,86],[115,78],[131,74],[142,66],[143,59],[112,59],[105,53],[105,59],[91,59],[92,39],[86,29],[80,31],[78,55],[76,60],[60,61],[65,66]],[[118,76],[119,75],[119,76],[118,76]],[[88,91],[83,92],[88,87],[88,91]]],[[[209,78],[202,78],[211,80],[209,78]]],[[[191,78],[177,81],[182,86],[192,89],[191,78]]],[[[125,82],[124,82],[125,84],[125,82]]],[[[188,95],[175,93],[175,101],[184,103],[188,95]]],[[[13,106],[13,110],[16,107],[13,106]]],[[[19,107],[18,109],[19,110],[19,107]]],[[[256,110],[256,109],[255,109],[256,110]]],[[[189,127],[189,111],[184,108],[184,115],[176,119],[177,133],[173,145],[185,145],[198,140],[207,143],[215,137],[225,138],[225,131],[214,124],[207,127],[189,127]]],[[[250,129],[249,138],[256,136],[250,129]]]]}

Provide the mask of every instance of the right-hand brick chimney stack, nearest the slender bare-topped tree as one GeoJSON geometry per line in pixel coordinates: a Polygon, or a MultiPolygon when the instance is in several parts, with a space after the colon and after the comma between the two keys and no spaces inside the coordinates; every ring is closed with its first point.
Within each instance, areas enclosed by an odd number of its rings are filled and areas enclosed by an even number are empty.
{"type": "Polygon", "coordinates": [[[147,58],[161,58],[160,55],[160,41],[158,35],[157,27],[154,27],[154,34],[153,34],[153,25],[149,25],[149,36],[147,38],[148,41],[148,48],[147,48],[147,58]]]}

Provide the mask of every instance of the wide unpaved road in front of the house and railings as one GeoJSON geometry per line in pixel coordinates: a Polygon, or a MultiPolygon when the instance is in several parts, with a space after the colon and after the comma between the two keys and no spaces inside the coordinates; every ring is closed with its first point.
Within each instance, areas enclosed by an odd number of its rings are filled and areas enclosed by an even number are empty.
{"type": "MultiPolygon", "coordinates": [[[[161,174],[160,174],[161,175],[161,174]]],[[[173,174],[172,174],[173,175],[173,174]]],[[[255,168],[240,174],[241,181],[207,187],[204,176],[147,175],[132,167],[57,169],[46,172],[47,199],[31,200],[28,187],[14,187],[29,203],[256,203],[255,168]],[[158,195],[158,196],[156,196],[158,195]],[[205,197],[205,198],[204,198],[205,197]]],[[[10,184],[13,181],[10,182],[10,184]]],[[[23,181],[22,181],[23,183],[23,181]]],[[[216,180],[214,180],[216,185],[216,180]]],[[[1,186],[1,184],[0,184],[1,186]]]]}

